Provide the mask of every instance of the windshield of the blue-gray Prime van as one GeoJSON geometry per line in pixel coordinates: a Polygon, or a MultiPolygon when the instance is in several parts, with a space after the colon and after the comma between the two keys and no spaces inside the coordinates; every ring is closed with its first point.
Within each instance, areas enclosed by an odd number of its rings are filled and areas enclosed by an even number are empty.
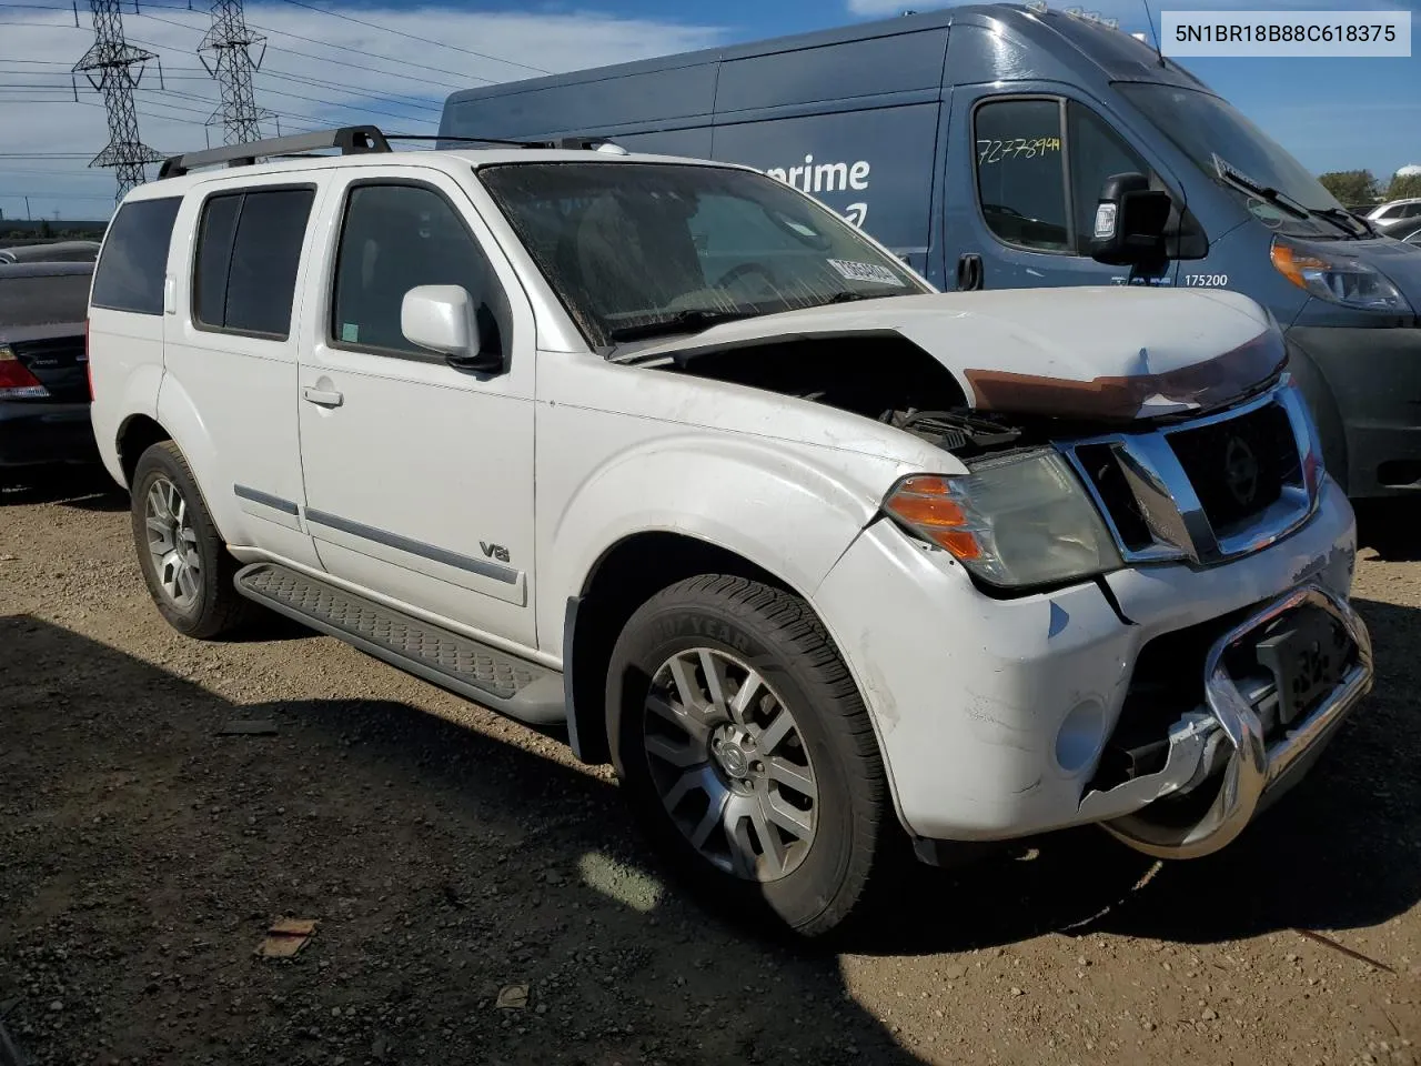
{"type": "MultiPolygon", "coordinates": [[[[1341,205],[1300,162],[1226,99],[1175,85],[1117,82],[1115,88],[1211,178],[1218,181],[1214,156],[1219,156],[1249,181],[1276,189],[1297,206],[1309,210],[1341,210],[1341,205]]],[[[1248,193],[1239,190],[1239,195],[1248,193]]],[[[1255,213],[1268,222],[1277,217],[1270,208],[1255,213]]],[[[1300,223],[1309,233],[1317,229],[1336,236],[1334,229],[1310,220],[1289,217],[1287,223],[1300,223]]]]}

